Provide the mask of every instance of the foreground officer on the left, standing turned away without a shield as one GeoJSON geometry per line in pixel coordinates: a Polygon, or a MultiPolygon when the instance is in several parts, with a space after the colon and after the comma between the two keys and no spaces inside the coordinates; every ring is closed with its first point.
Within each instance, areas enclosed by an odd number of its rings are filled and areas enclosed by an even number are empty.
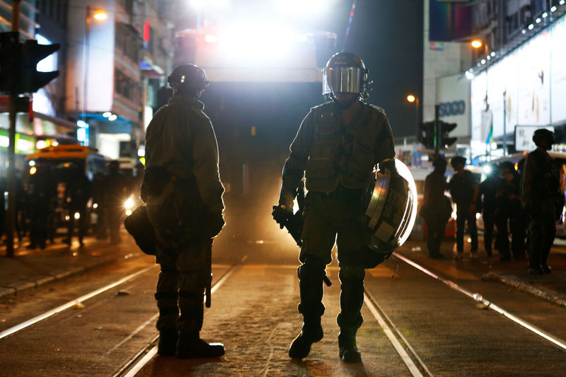
{"type": "Polygon", "coordinates": [[[173,70],[168,83],[173,97],[147,128],[141,190],[161,265],[155,294],[158,354],[219,357],[224,346],[204,342],[199,335],[202,298],[211,279],[212,238],[224,226],[218,146],[199,100],[208,81],[202,69],[186,64],[173,70]]]}

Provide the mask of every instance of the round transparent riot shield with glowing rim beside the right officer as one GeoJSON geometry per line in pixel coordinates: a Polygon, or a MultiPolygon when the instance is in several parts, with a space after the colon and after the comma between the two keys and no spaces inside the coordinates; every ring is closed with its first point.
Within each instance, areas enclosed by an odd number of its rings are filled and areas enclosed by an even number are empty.
{"type": "Polygon", "coordinates": [[[379,163],[362,197],[365,241],[374,253],[387,255],[405,243],[417,217],[417,187],[398,159],[379,163]]]}

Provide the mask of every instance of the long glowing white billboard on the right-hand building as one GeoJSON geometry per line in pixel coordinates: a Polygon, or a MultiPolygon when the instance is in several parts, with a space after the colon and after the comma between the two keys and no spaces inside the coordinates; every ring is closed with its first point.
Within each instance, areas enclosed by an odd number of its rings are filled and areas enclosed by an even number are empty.
{"type": "Polygon", "coordinates": [[[566,16],[472,79],[471,137],[485,142],[481,112],[485,94],[493,114],[493,137],[516,125],[546,127],[566,122],[566,16]]]}

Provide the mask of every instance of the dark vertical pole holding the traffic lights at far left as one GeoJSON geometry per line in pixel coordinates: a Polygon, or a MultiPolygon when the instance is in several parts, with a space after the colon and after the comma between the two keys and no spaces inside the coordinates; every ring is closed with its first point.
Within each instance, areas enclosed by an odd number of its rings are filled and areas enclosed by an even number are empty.
{"type": "MultiPolygon", "coordinates": [[[[12,1],[12,32],[20,29],[21,0],[12,1]]],[[[17,37],[16,37],[17,38],[17,37]]],[[[16,43],[18,40],[16,40],[16,43]]],[[[6,257],[13,257],[13,231],[16,229],[16,101],[15,86],[10,91],[10,127],[8,129],[8,210],[6,211],[6,257]]],[[[4,195],[4,193],[2,193],[4,195]]]]}

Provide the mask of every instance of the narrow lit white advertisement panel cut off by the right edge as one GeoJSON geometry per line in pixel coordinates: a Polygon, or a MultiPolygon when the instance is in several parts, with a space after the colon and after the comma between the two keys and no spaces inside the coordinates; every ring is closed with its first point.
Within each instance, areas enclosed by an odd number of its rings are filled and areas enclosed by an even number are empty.
{"type": "Polygon", "coordinates": [[[566,121],[566,16],[558,20],[551,32],[552,52],[552,116],[553,123],[566,121]]]}

